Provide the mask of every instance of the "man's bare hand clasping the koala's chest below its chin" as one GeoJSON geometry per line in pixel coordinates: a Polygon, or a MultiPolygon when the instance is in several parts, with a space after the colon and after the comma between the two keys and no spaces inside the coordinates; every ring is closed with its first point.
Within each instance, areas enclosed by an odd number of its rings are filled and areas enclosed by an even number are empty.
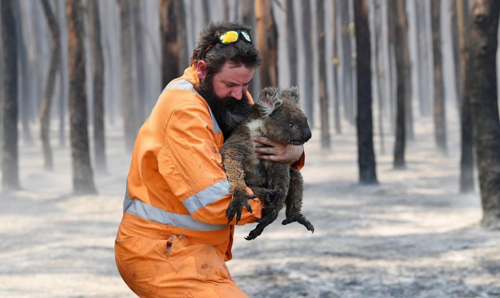
{"type": "Polygon", "coordinates": [[[267,147],[255,147],[260,159],[267,159],[281,163],[293,164],[304,153],[304,146],[293,146],[272,142],[266,137],[253,137],[252,140],[262,143],[267,147]]]}

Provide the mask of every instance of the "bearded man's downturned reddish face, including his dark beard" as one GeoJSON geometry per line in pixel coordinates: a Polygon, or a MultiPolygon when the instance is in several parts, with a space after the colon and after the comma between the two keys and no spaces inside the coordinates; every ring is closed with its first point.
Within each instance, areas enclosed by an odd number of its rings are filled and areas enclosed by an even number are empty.
{"type": "Polygon", "coordinates": [[[214,113],[226,140],[250,107],[245,93],[253,75],[254,69],[226,63],[219,73],[207,75],[199,83],[200,93],[214,113]]]}

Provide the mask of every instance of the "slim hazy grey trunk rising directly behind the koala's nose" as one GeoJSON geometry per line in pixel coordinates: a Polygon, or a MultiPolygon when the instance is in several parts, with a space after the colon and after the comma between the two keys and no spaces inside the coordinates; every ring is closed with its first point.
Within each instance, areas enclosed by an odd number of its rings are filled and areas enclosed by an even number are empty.
{"type": "Polygon", "coordinates": [[[313,100],[313,41],[311,36],[311,4],[302,1],[302,38],[304,40],[304,78],[305,89],[302,92],[305,99],[306,116],[309,125],[314,127],[314,100],[313,100]]]}

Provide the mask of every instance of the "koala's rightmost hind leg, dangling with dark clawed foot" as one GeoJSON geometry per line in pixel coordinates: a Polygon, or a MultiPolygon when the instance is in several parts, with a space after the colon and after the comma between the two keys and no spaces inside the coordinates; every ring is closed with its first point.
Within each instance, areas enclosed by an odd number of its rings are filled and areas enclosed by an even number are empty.
{"type": "Polygon", "coordinates": [[[303,193],[304,179],[302,178],[301,172],[290,168],[290,187],[288,189],[288,195],[286,196],[286,219],[281,223],[288,224],[296,221],[304,225],[308,230],[314,232],[314,226],[301,213],[303,193]]]}

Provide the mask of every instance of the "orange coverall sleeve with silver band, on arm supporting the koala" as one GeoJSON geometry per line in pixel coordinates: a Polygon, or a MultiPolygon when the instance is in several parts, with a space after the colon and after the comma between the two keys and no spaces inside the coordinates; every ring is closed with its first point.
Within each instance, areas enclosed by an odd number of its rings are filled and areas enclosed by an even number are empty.
{"type": "MultiPolygon", "coordinates": [[[[159,170],[194,219],[227,224],[226,210],[232,196],[213,130],[205,107],[193,104],[174,110],[159,153],[159,170]]],[[[249,188],[247,192],[252,194],[249,188]]],[[[260,199],[248,201],[252,213],[243,208],[238,225],[261,217],[260,199]]],[[[235,219],[230,224],[236,224],[235,219]]]]}

